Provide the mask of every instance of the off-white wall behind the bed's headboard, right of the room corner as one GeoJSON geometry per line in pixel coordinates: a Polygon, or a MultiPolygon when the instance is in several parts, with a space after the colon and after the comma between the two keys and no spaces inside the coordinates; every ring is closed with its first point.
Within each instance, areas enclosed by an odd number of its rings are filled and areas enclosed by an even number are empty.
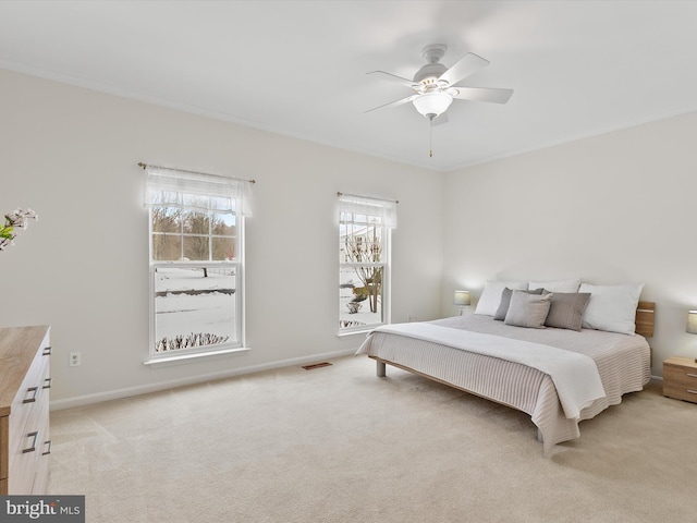
{"type": "Polygon", "coordinates": [[[443,309],[487,279],[644,282],[657,302],[652,374],[697,356],[697,113],[449,173],[443,309]]]}

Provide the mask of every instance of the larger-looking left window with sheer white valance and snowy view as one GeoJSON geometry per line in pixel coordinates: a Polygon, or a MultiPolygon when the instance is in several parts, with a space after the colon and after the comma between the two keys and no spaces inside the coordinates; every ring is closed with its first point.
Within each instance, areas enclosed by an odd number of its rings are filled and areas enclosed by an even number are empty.
{"type": "Polygon", "coordinates": [[[252,182],[146,166],[150,357],[240,349],[252,182]]]}

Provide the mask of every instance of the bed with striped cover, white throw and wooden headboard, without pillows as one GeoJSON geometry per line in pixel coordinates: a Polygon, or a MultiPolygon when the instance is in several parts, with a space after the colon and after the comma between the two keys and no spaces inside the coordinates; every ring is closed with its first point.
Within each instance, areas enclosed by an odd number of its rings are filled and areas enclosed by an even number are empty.
{"type": "MultiPolygon", "coordinates": [[[[368,333],[356,355],[376,360],[379,377],[392,365],[527,413],[550,454],[555,445],[580,436],[580,421],[650,380],[646,338],[653,335],[655,303],[639,302],[636,294],[632,332],[529,328],[466,314],[382,326],[368,333]]],[[[601,295],[589,297],[588,308],[602,313],[601,295]],[[592,299],[598,303],[590,307],[592,299]]]]}

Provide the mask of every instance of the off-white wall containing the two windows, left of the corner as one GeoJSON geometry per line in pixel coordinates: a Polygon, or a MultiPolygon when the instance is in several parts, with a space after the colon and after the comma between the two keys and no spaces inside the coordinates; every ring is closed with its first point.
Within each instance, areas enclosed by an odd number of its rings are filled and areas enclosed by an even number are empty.
{"type": "Polygon", "coordinates": [[[442,179],[360,156],[0,71],[0,211],[39,215],[0,253],[0,326],[50,324],[53,404],[350,353],[338,338],[337,192],[400,200],[394,321],[441,307],[442,179]],[[148,235],[138,161],[256,179],[247,344],[150,368],[148,235]],[[299,314],[298,314],[299,313],[299,314]],[[69,366],[69,352],[82,366],[69,366]]]}

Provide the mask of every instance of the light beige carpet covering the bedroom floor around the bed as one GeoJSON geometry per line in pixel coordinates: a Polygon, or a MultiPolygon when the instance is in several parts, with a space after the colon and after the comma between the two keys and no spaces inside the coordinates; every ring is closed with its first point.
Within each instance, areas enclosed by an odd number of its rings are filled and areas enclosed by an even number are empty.
{"type": "Polygon", "coordinates": [[[697,405],[625,396],[545,458],[523,413],[345,357],[51,413],[86,521],[697,521],[697,405]]]}

